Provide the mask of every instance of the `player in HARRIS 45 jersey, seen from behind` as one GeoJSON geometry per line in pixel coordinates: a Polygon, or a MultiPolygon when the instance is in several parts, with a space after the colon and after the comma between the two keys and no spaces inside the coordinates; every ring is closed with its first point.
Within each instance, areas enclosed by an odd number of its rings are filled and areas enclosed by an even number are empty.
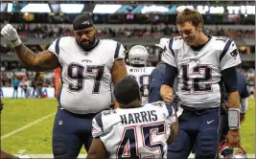
{"type": "Polygon", "coordinates": [[[164,102],[142,106],[139,89],[132,77],[116,83],[114,96],[120,108],[93,119],[88,159],[166,158],[167,143],[175,140],[178,129],[175,110],[164,102]]]}

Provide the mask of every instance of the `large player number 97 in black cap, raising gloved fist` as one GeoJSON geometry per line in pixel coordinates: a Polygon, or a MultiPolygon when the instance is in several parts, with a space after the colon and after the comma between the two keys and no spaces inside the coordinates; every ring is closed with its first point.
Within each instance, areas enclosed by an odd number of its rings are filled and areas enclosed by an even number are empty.
{"type": "Polygon", "coordinates": [[[61,88],[53,128],[55,158],[77,158],[82,145],[89,149],[93,117],[112,102],[112,82],[127,76],[123,45],[98,39],[90,15],[78,15],[73,29],[74,36],[58,38],[47,51],[39,54],[21,42],[12,25],[6,25],[1,31],[26,67],[40,72],[61,66],[61,88]]]}

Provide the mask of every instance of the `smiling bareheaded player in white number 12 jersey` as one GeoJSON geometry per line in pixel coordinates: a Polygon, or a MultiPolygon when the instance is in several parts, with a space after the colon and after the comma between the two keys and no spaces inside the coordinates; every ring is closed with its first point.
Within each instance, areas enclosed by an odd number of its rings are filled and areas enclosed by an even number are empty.
{"type": "Polygon", "coordinates": [[[196,158],[216,158],[221,122],[221,79],[229,96],[226,141],[231,148],[240,145],[240,98],[235,68],[241,63],[239,52],[232,39],[203,34],[203,20],[198,11],[180,11],[176,24],[180,36],[170,38],[162,56],[166,68],[160,94],[165,102],[172,102],[172,86],[177,77],[177,95],[183,113],[168,158],[187,158],[194,145],[196,158]]]}

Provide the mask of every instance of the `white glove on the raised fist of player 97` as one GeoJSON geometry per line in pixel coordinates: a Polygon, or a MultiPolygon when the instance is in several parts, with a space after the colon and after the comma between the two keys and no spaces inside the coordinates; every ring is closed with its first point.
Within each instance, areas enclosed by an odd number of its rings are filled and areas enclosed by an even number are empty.
{"type": "Polygon", "coordinates": [[[21,40],[17,34],[17,31],[12,27],[11,24],[7,24],[1,31],[1,34],[9,41],[12,42],[14,46],[21,44],[21,40]]]}

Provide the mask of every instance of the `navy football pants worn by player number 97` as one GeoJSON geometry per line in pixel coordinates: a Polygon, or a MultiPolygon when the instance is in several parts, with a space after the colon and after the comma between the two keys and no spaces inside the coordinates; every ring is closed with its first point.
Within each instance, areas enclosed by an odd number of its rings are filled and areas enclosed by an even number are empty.
{"type": "Polygon", "coordinates": [[[58,109],[53,128],[53,153],[55,158],[75,159],[82,145],[86,151],[92,142],[92,119],[96,114],[74,114],[58,109]]]}

